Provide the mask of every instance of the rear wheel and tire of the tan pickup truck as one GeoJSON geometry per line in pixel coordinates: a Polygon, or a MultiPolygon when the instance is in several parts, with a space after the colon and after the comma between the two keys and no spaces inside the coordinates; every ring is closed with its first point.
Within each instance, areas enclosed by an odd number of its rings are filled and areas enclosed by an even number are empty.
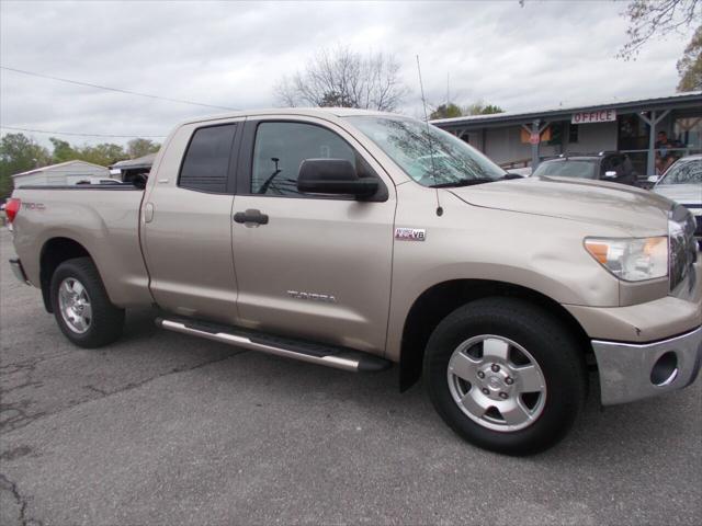
{"type": "Polygon", "coordinates": [[[102,347],[122,334],[124,309],[110,301],[90,258],[58,265],[52,276],[50,301],[61,332],[80,347],[102,347]]]}

